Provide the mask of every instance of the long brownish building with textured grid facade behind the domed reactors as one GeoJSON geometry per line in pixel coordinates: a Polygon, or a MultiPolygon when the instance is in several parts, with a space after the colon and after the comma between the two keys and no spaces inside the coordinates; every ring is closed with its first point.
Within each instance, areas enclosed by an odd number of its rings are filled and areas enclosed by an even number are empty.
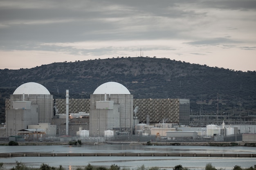
{"type": "MultiPolygon", "coordinates": [[[[65,113],[65,99],[55,101],[58,113],[65,113]]],[[[90,112],[90,99],[69,99],[69,102],[70,113],[90,112]]],[[[165,123],[189,126],[189,103],[189,99],[133,99],[134,116],[143,123],[149,115],[150,124],[164,120],[165,123]]]]}

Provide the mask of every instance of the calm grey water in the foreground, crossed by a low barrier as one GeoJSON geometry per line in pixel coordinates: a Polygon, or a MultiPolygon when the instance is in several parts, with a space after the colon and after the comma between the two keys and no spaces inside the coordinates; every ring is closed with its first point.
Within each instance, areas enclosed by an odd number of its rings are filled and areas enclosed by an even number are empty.
{"type": "MultiPolygon", "coordinates": [[[[11,152],[47,152],[47,153],[256,153],[256,147],[216,147],[216,146],[141,146],[129,144],[114,145],[83,145],[83,146],[0,146],[0,153],[11,152]]],[[[10,169],[16,161],[29,167],[40,167],[42,163],[58,167],[62,165],[67,170],[90,163],[92,166],[118,165],[121,168],[136,169],[145,167],[165,168],[173,170],[176,165],[182,165],[190,170],[203,170],[207,163],[215,168],[232,170],[235,165],[249,168],[256,165],[256,158],[251,157],[7,157],[0,158],[4,167],[10,169]]]]}

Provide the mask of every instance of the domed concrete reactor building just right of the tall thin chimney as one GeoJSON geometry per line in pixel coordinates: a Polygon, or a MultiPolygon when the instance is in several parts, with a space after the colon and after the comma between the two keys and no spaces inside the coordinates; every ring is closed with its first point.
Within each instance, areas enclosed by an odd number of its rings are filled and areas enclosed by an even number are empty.
{"type": "Polygon", "coordinates": [[[101,84],[90,95],[90,137],[105,130],[133,133],[133,95],[117,82],[101,84]]]}

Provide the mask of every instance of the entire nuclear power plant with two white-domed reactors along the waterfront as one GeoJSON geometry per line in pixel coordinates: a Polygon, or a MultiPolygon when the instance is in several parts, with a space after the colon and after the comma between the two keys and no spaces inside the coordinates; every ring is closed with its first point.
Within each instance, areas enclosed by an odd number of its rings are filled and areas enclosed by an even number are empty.
{"type": "Polygon", "coordinates": [[[189,99],[133,99],[117,82],[101,84],[90,99],[70,99],[68,89],[66,99],[54,99],[43,85],[28,82],[6,99],[5,113],[0,136],[16,141],[256,140],[255,125],[223,120],[222,126],[191,127],[189,99]]]}

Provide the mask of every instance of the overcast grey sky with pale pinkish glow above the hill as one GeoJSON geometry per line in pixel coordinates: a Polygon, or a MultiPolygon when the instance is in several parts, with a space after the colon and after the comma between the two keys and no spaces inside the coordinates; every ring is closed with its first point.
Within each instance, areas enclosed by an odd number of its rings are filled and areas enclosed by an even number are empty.
{"type": "Polygon", "coordinates": [[[256,0],[0,0],[0,69],[112,57],[256,70],[256,0]]]}

